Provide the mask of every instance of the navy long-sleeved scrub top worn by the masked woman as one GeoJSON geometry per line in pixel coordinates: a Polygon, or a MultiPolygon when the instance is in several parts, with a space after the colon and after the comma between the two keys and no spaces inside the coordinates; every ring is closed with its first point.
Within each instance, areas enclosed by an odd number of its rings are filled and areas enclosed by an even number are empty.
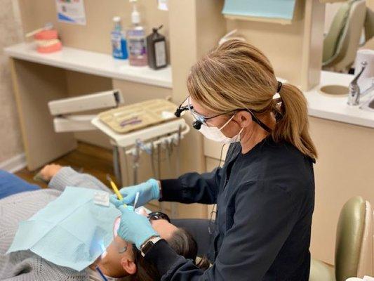
{"type": "Polygon", "coordinates": [[[213,266],[203,271],[159,240],[145,259],[162,280],[307,281],[314,160],[268,136],[246,154],[230,145],[225,165],[161,181],[163,201],[217,203],[213,266]]]}

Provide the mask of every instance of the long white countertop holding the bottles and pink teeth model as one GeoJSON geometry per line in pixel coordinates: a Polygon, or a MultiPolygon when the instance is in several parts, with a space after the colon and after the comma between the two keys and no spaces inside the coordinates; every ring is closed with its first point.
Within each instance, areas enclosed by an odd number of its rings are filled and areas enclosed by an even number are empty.
{"type": "Polygon", "coordinates": [[[128,60],[115,60],[112,55],[63,47],[56,53],[36,52],[33,43],[21,43],[4,49],[11,58],[51,65],[67,70],[94,74],[101,77],[133,81],[141,84],[172,88],[170,65],[162,70],[149,67],[133,67],[128,60]]]}

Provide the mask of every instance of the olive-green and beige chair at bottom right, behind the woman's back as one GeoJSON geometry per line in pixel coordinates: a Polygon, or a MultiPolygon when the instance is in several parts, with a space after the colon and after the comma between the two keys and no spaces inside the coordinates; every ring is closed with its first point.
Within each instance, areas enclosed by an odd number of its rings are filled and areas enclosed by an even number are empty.
{"type": "Polygon", "coordinates": [[[352,197],[340,211],[335,242],[335,268],[312,259],[309,281],[345,281],[373,275],[373,209],[352,197]]]}

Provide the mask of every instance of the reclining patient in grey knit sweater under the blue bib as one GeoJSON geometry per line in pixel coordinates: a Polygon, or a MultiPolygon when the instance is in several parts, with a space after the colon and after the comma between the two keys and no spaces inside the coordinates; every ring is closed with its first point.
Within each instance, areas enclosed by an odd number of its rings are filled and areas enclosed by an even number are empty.
{"type": "MultiPolygon", "coordinates": [[[[0,195],[4,186],[7,189],[10,189],[12,184],[23,186],[18,188],[18,193],[8,192],[9,194],[0,200],[0,280],[104,280],[95,270],[96,266],[108,280],[160,279],[156,268],[142,257],[140,251],[117,236],[99,259],[80,272],[57,266],[32,251],[5,254],[13,241],[18,223],[26,221],[46,204],[55,200],[67,185],[110,191],[97,178],[77,173],[69,167],[47,165],[41,174],[49,181],[47,189],[37,189],[35,186],[29,188],[20,178],[0,171],[0,195]]],[[[2,193],[4,195],[4,192],[2,193]]],[[[178,254],[187,259],[195,259],[196,242],[186,230],[173,226],[167,216],[160,214],[152,215],[149,220],[152,227],[178,254]]]]}

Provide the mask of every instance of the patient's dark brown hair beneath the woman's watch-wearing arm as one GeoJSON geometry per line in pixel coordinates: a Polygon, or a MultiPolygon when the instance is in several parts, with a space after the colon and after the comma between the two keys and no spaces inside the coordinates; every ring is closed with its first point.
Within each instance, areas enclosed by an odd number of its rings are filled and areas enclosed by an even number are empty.
{"type": "MultiPolygon", "coordinates": [[[[197,254],[197,244],[194,237],[184,228],[175,230],[172,237],[166,240],[171,248],[180,256],[186,259],[192,259],[195,262],[197,254]]],[[[133,281],[152,281],[161,280],[159,271],[154,264],[149,263],[144,259],[142,254],[135,245],[133,246],[134,259],[137,267],[135,275],[132,276],[133,281]]]]}

